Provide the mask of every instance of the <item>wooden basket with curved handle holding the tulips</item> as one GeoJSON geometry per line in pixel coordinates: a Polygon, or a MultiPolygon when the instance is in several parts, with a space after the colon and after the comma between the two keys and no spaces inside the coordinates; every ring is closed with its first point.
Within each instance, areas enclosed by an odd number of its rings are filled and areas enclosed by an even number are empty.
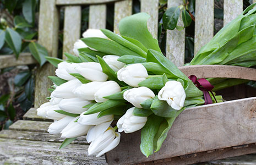
{"type": "MultiPolygon", "coordinates": [[[[187,76],[256,81],[256,69],[226,65],[180,67],[187,76]]],[[[243,85],[222,90],[242,98],[185,109],[175,120],[159,152],[146,158],[139,149],[140,131],[121,134],[116,149],[106,153],[109,164],[192,164],[256,152],[256,90],[243,85]],[[144,163],[143,163],[144,162],[144,163]],[[146,162],[146,163],[145,163],[146,162]]]]}

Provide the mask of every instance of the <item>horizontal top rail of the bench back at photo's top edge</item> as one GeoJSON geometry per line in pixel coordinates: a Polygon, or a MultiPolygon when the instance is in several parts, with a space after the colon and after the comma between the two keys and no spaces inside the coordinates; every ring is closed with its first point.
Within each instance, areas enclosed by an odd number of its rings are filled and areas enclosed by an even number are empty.
{"type": "Polygon", "coordinates": [[[56,0],[57,5],[75,5],[75,4],[101,4],[111,3],[121,0],[56,0]]]}

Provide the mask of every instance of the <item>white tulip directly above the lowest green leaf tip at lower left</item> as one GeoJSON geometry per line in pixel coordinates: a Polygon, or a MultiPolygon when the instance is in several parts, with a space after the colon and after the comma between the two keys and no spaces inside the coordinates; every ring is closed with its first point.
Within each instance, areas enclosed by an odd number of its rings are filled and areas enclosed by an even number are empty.
{"type": "Polygon", "coordinates": [[[78,117],[74,118],[68,125],[61,131],[62,138],[76,138],[86,135],[91,125],[81,125],[75,122],[78,117]]]}

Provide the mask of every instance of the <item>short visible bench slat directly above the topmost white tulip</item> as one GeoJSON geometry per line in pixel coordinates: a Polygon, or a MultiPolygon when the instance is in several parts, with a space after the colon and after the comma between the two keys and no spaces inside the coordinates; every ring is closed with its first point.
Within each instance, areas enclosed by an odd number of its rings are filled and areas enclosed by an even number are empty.
{"type": "Polygon", "coordinates": [[[89,28],[90,29],[105,29],[107,5],[97,4],[90,5],[89,8],[89,28]]]}

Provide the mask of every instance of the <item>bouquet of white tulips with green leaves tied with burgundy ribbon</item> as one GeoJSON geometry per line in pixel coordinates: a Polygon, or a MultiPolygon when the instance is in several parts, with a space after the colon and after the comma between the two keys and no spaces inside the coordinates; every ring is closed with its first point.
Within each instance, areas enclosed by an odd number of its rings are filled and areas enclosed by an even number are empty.
{"type": "Polygon", "coordinates": [[[55,120],[50,134],[61,134],[61,147],[78,136],[91,142],[89,155],[114,149],[121,132],[141,130],[141,152],[159,151],[177,116],[186,108],[222,102],[200,90],[160,51],[147,28],[148,14],[122,19],[120,35],[87,30],[68,60],[48,57],[57,67],[49,102],[37,114],[55,120]],[[117,122],[113,122],[116,120],[117,122]],[[116,123],[116,124],[115,124],[116,123]]]}

